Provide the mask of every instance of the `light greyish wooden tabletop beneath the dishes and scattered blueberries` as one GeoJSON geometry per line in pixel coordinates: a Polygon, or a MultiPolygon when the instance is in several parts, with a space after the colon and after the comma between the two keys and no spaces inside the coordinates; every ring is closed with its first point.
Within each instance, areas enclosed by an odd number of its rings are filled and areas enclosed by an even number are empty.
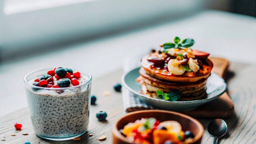
{"type": "MultiPolygon", "coordinates": [[[[256,66],[231,62],[229,69],[228,93],[234,103],[235,113],[224,119],[228,132],[219,143],[256,143],[256,66]]],[[[91,106],[88,132],[81,136],[81,140],[50,141],[37,137],[32,129],[28,108],[25,108],[0,118],[0,140],[5,139],[0,141],[0,144],[23,144],[26,141],[30,141],[31,144],[112,143],[111,126],[118,118],[125,115],[122,95],[113,90],[113,84],[120,83],[122,73],[122,70],[119,70],[93,79],[92,94],[97,96],[97,105],[91,106]],[[110,95],[104,96],[105,91],[110,91],[110,95]],[[97,120],[95,115],[99,110],[107,112],[107,121],[97,120]],[[15,122],[23,125],[21,131],[15,130],[15,122]],[[22,135],[23,133],[28,135],[22,135]],[[93,133],[93,136],[89,137],[89,133],[93,133]],[[16,136],[10,136],[12,134],[16,136]],[[98,140],[102,135],[107,136],[105,141],[98,140]]],[[[207,125],[212,119],[198,120],[205,128],[202,143],[212,143],[213,137],[207,133],[207,125]]]]}

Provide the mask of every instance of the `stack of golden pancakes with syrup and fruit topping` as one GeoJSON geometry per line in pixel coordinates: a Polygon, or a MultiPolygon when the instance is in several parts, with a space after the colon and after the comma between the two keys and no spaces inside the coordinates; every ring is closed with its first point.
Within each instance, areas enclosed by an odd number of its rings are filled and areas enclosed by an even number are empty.
{"type": "Polygon", "coordinates": [[[158,51],[142,58],[142,67],[139,70],[141,76],[136,79],[141,84],[141,93],[159,99],[156,90],[161,90],[163,93],[179,91],[181,97],[178,101],[204,98],[206,96],[206,81],[213,67],[212,62],[208,58],[197,59],[190,48],[185,50],[173,48],[173,50],[169,50],[172,55],[168,52],[158,51]],[[173,50],[177,53],[171,53],[173,50]],[[183,56],[179,56],[180,53],[183,56]],[[180,63],[182,63],[180,61],[185,58],[189,59],[185,64],[190,67],[188,71],[180,67],[180,63]],[[191,61],[196,64],[195,68],[197,69],[192,67],[191,61]],[[182,72],[180,73],[180,71],[182,72]]]}

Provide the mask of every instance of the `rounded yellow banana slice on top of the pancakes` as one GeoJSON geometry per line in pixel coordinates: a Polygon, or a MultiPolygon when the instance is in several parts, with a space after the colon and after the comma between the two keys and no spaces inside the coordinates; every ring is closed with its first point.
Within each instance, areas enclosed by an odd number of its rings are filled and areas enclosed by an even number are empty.
{"type": "Polygon", "coordinates": [[[170,59],[167,68],[171,73],[175,75],[181,75],[185,72],[185,69],[180,67],[179,60],[177,59],[170,59]]]}

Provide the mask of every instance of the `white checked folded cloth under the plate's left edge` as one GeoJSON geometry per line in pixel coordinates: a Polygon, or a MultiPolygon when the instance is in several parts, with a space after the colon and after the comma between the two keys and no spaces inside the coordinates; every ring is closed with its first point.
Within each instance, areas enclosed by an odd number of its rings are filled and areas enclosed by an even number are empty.
{"type": "Polygon", "coordinates": [[[123,104],[126,112],[132,112],[137,110],[157,109],[145,102],[141,101],[138,96],[135,96],[126,88],[122,88],[123,104]]]}

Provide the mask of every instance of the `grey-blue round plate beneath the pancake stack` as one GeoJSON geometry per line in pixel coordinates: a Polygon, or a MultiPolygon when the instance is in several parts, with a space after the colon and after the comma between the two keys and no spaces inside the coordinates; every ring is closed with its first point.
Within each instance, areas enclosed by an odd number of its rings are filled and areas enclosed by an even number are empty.
{"type": "Polygon", "coordinates": [[[211,76],[206,82],[206,93],[207,98],[201,100],[191,100],[191,101],[166,101],[156,98],[147,97],[146,95],[140,94],[138,91],[141,90],[140,84],[138,84],[135,79],[140,76],[140,68],[135,68],[122,76],[123,85],[131,91],[134,95],[138,96],[146,104],[151,105],[155,108],[172,110],[172,111],[187,111],[194,109],[202,104],[210,102],[220,95],[222,95],[227,84],[225,81],[216,73],[211,73],[211,76]]]}

